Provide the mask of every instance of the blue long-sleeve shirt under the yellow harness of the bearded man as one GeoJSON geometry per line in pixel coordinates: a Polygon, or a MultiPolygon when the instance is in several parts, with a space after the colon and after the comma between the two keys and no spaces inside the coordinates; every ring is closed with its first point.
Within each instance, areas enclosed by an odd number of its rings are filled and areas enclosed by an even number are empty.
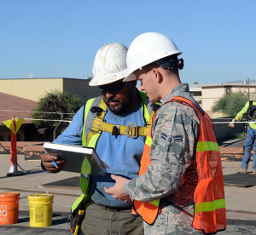
{"type": "MultiPolygon", "coordinates": [[[[72,123],[54,142],[67,145],[82,145],[83,115],[84,108],[82,107],[73,117],[72,123]]],[[[137,123],[139,126],[145,125],[140,104],[123,116],[115,115],[108,109],[104,118],[107,123],[119,125],[137,123]]],[[[113,199],[105,193],[104,186],[113,186],[114,181],[110,177],[111,174],[122,175],[129,179],[136,177],[139,171],[140,159],[143,155],[143,147],[143,136],[133,139],[126,135],[111,135],[111,133],[102,132],[97,141],[96,152],[99,158],[108,165],[109,169],[107,169],[107,176],[91,175],[90,196],[95,203],[109,207],[131,207],[131,205],[113,199]]]]}

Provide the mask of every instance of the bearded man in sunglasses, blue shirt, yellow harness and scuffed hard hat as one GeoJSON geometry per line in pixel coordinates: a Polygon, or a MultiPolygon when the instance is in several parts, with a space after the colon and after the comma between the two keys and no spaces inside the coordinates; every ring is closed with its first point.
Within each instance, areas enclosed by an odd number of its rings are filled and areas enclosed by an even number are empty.
{"type": "MultiPolygon", "coordinates": [[[[148,97],[136,88],[137,81],[124,83],[128,75],[127,49],[120,43],[108,43],[98,50],[90,86],[98,86],[102,95],[88,100],[73,117],[73,122],[54,141],[69,145],[90,146],[108,165],[107,176],[83,174],[83,192],[72,207],[72,218],[85,210],[79,234],[143,234],[143,220],[131,215],[131,203],[119,201],[104,192],[113,186],[111,174],[132,179],[138,175],[144,140],[153,110],[148,97]],[[89,197],[87,197],[89,195],[89,197]]],[[[63,161],[46,154],[42,159],[49,172],[60,171],[63,161]],[[58,169],[52,161],[58,164],[58,169]]]]}

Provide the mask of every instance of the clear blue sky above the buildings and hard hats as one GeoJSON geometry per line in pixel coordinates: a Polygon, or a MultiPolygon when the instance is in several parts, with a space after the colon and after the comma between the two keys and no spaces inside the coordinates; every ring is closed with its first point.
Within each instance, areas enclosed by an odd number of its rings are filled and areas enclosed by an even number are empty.
{"type": "Polygon", "coordinates": [[[0,79],[92,77],[107,43],[160,32],[183,83],[256,79],[256,0],[0,0],[0,79]]]}

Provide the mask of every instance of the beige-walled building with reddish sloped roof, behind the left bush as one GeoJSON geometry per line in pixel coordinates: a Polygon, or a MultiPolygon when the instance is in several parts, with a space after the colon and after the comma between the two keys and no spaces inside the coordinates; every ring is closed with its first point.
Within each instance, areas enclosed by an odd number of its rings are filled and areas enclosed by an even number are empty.
{"type": "MultiPolygon", "coordinates": [[[[89,80],[67,77],[0,79],[0,140],[10,140],[10,130],[3,121],[13,116],[32,118],[31,111],[46,93],[54,90],[77,95],[81,106],[92,97],[100,95],[100,89],[90,87],[89,80]]],[[[36,129],[31,120],[25,120],[17,133],[18,141],[51,140],[49,129],[36,129]]]]}

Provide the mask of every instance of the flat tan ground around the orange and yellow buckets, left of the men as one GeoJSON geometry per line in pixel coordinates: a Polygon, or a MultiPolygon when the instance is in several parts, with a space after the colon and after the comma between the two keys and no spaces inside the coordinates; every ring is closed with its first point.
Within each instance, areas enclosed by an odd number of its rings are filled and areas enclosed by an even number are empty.
{"type": "Polygon", "coordinates": [[[19,221],[0,226],[0,234],[72,234],[67,217],[73,202],[81,195],[79,180],[72,186],[58,186],[55,182],[79,179],[79,174],[44,172],[40,161],[25,161],[24,155],[18,155],[18,164],[22,169],[18,167],[17,176],[6,176],[9,175],[9,154],[0,155],[0,192],[20,192],[19,221]],[[28,196],[35,193],[54,194],[52,226],[30,226],[28,196]]]}

